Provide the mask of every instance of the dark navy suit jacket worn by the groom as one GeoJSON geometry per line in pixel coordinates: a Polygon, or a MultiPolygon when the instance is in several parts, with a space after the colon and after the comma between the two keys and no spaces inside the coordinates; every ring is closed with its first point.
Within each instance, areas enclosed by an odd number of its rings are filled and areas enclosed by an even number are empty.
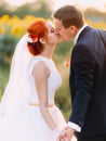
{"type": "Polygon", "coordinates": [[[69,85],[69,121],[82,128],[82,136],[106,133],[106,30],[82,30],[71,53],[69,85]]]}

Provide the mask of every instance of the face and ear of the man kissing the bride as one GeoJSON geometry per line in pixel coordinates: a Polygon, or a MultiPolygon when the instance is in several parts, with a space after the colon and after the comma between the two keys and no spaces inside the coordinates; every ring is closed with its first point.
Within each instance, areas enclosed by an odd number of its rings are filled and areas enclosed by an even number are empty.
{"type": "Polygon", "coordinates": [[[65,28],[59,20],[54,18],[54,26],[62,40],[68,41],[74,38],[71,27],[65,28]]]}

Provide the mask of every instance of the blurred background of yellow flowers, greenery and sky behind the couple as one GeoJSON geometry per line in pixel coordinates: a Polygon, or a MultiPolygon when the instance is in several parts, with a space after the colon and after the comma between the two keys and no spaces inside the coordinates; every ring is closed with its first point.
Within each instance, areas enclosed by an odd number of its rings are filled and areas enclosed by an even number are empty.
{"type": "MultiPolygon", "coordinates": [[[[28,24],[41,17],[53,22],[52,12],[65,4],[79,7],[90,26],[106,29],[106,0],[0,0],[0,99],[9,79],[15,46],[26,34],[28,24]]],[[[63,78],[63,85],[56,92],[55,103],[66,119],[70,114],[68,59],[72,46],[72,41],[61,42],[56,46],[53,55],[63,78]]]]}

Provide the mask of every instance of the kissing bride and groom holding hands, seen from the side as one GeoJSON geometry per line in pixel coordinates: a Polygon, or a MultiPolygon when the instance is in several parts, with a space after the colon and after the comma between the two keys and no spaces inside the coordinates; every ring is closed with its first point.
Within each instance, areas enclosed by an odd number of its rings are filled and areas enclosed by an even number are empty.
{"type": "Polygon", "coordinates": [[[75,5],[59,8],[53,20],[54,26],[32,22],[16,46],[0,105],[0,141],[106,141],[106,30],[90,27],[75,5]],[[54,102],[62,77],[52,55],[71,39],[66,124],[54,102]]]}

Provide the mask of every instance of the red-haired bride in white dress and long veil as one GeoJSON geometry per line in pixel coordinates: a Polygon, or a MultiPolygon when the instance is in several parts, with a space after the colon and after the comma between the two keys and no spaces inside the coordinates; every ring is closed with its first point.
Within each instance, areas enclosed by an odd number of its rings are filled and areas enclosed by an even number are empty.
{"type": "Polygon", "coordinates": [[[62,78],[52,54],[59,41],[52,24],[39,20],[17,43],[0,104],[0,141],[56,141],[66,126],[54,103],[62,78]]]}

